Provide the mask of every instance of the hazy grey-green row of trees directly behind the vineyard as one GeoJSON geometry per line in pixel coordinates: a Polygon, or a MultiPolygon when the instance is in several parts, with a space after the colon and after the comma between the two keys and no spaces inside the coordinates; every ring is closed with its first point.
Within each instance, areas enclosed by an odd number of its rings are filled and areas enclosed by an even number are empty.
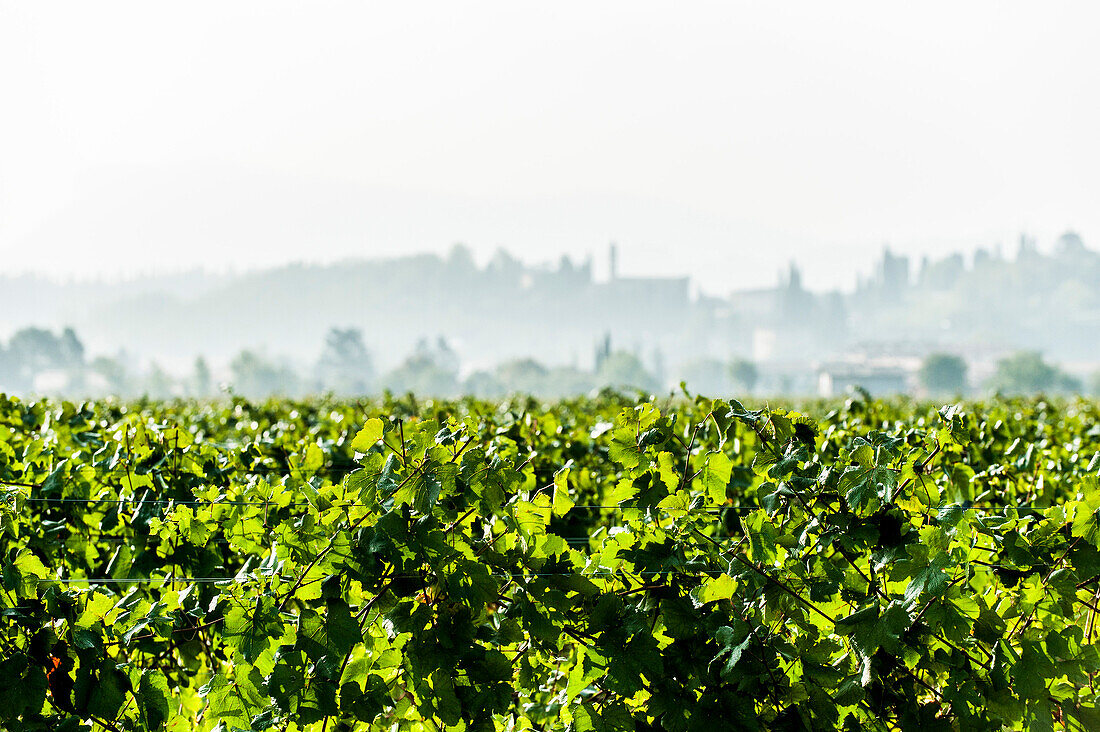
{"type": "MultiPolygon", "coordinates": [[[[594,357],[591,369],[521,358],[463,370],[446,338],[421,338],[397,367],[378,372],[362,330],[333,327],[326,334],[316,360],[306,367],[244,349],[218,375],[201,356],[188,373],[179,375],[156,362],[140,364],[125,352],[89,358],[73,328],[54,332],[30,327],[16,331],[7,343],[0,342],[0,392],[154,398],[211,397],[226,392],[249,397],[382,392],[444,397],[470,394],[491,398],[510,393],[560,397],[603,387],[654,393],[683,381],[696,392],[744,395],[757,391],[762,375],[759,364],[738,358],[694,359],[666,373],[659,352],[647,364],[637,353],[613,349],[609,336],[596,345],[594,357]]],[[[924,395],[963,395],[982,390],[1100,395],[1100,372],[1086,383],[1048,363],[1038,351],[1018,351],[1000,359],[992,375],[980,383],[969,379],[966,360],[950,353],[928,354],[914,375],[924,395]]]]}

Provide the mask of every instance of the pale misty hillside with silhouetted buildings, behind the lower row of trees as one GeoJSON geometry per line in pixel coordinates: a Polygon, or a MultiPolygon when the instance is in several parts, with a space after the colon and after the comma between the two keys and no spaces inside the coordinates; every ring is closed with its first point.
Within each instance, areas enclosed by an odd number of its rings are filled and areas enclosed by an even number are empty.
{"type": "Polygon", "coordinates": [[[91,351],[169,370],[199,354],[217,369],[242,349],[305,362],[333,327],[359,329],[380,369],[438,337],[466,371],[520,358],[592,369],[608,335],[654,373],[746,359],[763,383],[812,385],[815,364],[933,351],[979,371],[1019,349],[1082,371],[1100,362],[1100,254],[1072,232],[1049,253],[1022,237],[1011,258],[992,249],[915,262],[887,249],[851,292],[811,292],[792,264],[772,287],[714,296],[686,276],[622,276],[615,245],[607,260],[597,278],[591,259],[531,266],[499,251],[479,265],[457,245],[446,255],[118,284],[0,277],[0,335],[72,326],[91,351]]]}

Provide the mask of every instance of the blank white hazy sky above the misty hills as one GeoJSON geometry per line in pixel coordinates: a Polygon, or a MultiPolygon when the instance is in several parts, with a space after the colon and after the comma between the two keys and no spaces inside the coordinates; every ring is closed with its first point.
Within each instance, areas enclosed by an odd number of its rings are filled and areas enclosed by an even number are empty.
{"type": "Polygon", "coordinates": [[[0,2],[0,271],[1100,248],[1096,2],[0,2]]]}

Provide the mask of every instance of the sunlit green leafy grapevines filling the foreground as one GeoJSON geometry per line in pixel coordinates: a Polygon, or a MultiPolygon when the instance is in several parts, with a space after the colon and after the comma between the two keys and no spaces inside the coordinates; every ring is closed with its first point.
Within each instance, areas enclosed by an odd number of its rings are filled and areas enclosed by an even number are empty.
{"type": "Polygon", "coordinates": [[[1100,729],[1100,408],[800,409],[0,397],[0,729],[1100,729]]]}

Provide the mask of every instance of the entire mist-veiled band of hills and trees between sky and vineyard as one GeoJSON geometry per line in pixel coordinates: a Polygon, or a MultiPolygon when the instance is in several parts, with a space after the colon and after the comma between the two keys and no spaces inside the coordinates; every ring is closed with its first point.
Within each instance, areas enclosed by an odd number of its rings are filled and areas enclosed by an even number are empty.
{"type": "Polygon", "coordinates": [[[1071,231],[1005,249],[920,261],[887,249],[854,289],[823,293],[806,288],[798,262],[773,286],[714,294],[688,276],[624,276],[615,244],[598,263],[527,264],[498,250],[479,264],[458,244],[443,256],[237,275],[7,277],[0,387],[160,397],[566,396],[681,381],[719,395],[1100,387],[1100,254],[1071,231]],[[955,372],[937,375],[937,364],[955,372]]]}

